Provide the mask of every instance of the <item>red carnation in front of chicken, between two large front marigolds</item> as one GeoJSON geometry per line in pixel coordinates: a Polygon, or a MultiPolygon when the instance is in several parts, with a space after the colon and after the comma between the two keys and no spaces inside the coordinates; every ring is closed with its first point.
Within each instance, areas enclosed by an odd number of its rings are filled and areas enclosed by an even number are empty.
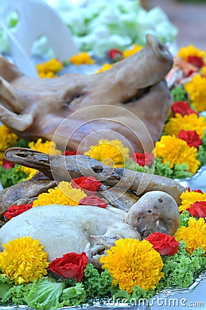
{"type": "Polygon", "coordinates": [[[86,253],[82,252],[82,254],[78,254],[71,252],[64,254],[60,258],[56,258],[56,260],[52,260],[52,262],[49,263],[48,269],[64,278],[76,278],[80,281],[84,275],[87,261],[88,258],[86,253]]]}

